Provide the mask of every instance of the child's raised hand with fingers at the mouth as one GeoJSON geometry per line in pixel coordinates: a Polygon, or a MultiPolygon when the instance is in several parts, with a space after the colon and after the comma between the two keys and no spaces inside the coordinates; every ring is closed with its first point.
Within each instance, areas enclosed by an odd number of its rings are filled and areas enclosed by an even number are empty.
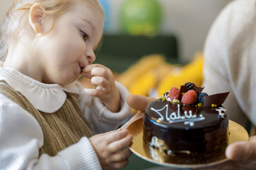
{"type": "Polygon", "coordinates": [[[91,83],[96,85],[95,89],[85,88],[85,93],[98,97],[110,111],[119,111],[120,94],[109,68],[100,64],[91,64],[83,69],[81,75],[91,79],[91,83]]]}

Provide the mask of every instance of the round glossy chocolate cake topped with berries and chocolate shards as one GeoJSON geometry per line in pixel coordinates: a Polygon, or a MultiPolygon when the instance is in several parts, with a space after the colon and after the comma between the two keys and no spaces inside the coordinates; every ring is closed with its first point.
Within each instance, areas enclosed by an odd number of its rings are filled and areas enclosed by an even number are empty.
{"type": "Polygon", "coordinates": [[[228,113],[221,104],[229,92],[208,96],[201,93],[203,88],[187,88],[171,88],[146,108],[143,138],[151,147],[167,154],[190,154],[227,144],[228,113]]]}

